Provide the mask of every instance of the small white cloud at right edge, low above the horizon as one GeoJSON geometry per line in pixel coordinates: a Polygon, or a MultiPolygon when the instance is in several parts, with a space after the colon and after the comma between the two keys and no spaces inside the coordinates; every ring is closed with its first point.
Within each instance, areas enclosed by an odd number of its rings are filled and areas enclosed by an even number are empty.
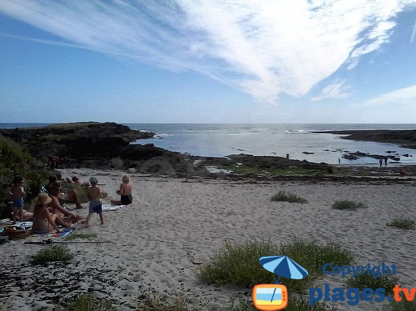
{"type": "Polygon", "coordinates": [[[406,87],[404,89],[397,89],[389,93],[381,94],[370,100],[360,103],[358,106],[380,106],[380,105],[395,105],[396,107],[403,105],[416,104],[416,85],[406,87]]]}

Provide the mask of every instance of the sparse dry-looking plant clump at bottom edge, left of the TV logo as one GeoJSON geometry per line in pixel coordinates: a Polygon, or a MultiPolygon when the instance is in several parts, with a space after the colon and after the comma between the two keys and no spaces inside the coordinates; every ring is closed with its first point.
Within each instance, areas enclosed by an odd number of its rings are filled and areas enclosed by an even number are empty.
{"type": "Polygon", "coordinates": [[[157,292],[146,292],[137,300],[137,311],[200,311],[201,306],[191,305],[191,300],[182,290],[170,296],[160,296],[157,292]]]}

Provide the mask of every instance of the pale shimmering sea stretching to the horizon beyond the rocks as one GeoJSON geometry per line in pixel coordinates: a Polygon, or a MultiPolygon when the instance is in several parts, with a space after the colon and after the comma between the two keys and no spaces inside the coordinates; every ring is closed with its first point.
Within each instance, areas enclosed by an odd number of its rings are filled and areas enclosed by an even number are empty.
{"type": "MultiPolygon", "coordinates": [[[[0,123],[0,128],[44,126],[40,123],[0,123]]],[[[205,157],[229,154],[253,154],[286,157],[338,165],[378,166],[377,159],[344,159],[348,152],[395,155],[398,161],[388,165],[416,165],[416,150],[392,143],[350,141],[345,135],[313,133],[329,130],[415,130],[416,124],[212,124],[212,123],[124,123],[133,130],[156,133],[153,139],[135,143],[153,143],[156,147],[205,157]],[[408,154],[408,157],[404,157],[408,154]]]]}

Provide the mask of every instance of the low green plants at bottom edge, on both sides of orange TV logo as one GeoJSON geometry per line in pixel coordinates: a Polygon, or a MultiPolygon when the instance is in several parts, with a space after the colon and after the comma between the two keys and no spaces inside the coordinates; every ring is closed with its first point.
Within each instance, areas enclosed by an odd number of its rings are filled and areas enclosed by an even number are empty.
{"type": "MultiPolygon", "coordinates": [[[[244,299],[241,296],[233,297],[231,301],[231,307],[227,311],[257,311],[254,308],[252,299],[244,299]]],[[[309,301],[305,299],[299,299],[289,295],[288,306],[284,309],[285,311],[336,311],[335,307],[329,309],[325,303],[314,303],[309,304],[309,301]]]]}

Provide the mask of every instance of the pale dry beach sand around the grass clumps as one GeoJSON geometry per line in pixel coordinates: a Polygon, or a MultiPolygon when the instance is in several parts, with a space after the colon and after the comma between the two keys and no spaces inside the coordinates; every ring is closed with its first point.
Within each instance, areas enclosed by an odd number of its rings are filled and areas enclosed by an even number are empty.
{"type": "MultiPolygon", "coordinates": [[[[87,180],[98,177],[102,190],[117,198],[124,172],[88,169],[62,170],[62,177],[78,175],[87,180]]],[[[285,242],[291,234],[335,241],[354,251],[358,264],[396,263],[400,283],[416,287],[416,232],[386,226],[394,217],[416,218],[415,181],[388,184],[311,181],[227,181],[171,179],[131,174],[134,202],[119,211],[98,215],[90,228],[78,225],[78,232],[97,233],[94,240],[114,244],[72,244],[76,258],[67,265],[31,265],[31,256],[44,246],[12,241],[0,245],[1,301],[11,310],[52,310],[53,301],[75,293],[92,292],[129,305],[149,289],[162,294],[172,288],[209,301],[210,308],[229,306],[229,299],[250,290],[233,286],[202,284],[196,272],[200,263],[223,246],[225,240],[237,243],[253,239],[285,242]],[[309,204],[271,202],[278,190],[288,190],[309,204]],[[367,204],[357,211],[331,208],[336,200],[351,199],[367,204]],[[60,294],[61,293],[61,294],[60,294]]],[[[87,206],[87,204],[85,204],[87,206]]],[[[87,216],[86,210],[77,211],[87,216]]],[[[33,237],[28,240],[42,240],[33,237]]],[[[274,254],[270,254],[274,255],[274,254]]],[[[320,280],[340,287],[343,279],[329,276],[320,280]]],[[[331,305],[331,303],[329,303],[331,305]]],[[[361,302],[356,306],[335,303],[338,310],[374,310],[383,303],[361,302]]]]}

